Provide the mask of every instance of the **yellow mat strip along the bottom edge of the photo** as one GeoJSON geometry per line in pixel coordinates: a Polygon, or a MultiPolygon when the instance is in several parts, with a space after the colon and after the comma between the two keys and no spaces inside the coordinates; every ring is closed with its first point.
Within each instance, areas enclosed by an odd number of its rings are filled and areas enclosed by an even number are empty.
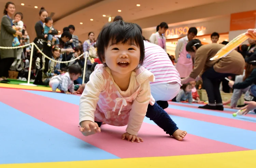
{"type": "MultiPolygon", "coordinates": [[[[246,143],[246,142],[245,142],[246,143]]],[[[182,148],[182,146],[181,146],[182,148]]],[[[171,149],[170,149],[171,150],[171,149]]],[[[125,152],[125,150],[124,150],[125,152]]],[[[134,151],[136,152],[136,151],[134,151]]],[[[256,150],[198,155],[123,158],[98,161],[5,164],[1,168],[255,168],[256,150]]]]}

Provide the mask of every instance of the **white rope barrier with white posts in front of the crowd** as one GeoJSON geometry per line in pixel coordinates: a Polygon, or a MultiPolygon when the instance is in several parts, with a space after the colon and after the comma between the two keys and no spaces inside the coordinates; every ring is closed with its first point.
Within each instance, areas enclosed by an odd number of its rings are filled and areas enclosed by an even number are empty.
{"type": "Polygon", "coordinates": [[[82,53],[80,56],[72,59],[72,60],[69,60],[69,61],[57,61],[57,60],[54,60],[50,57],[48,57],[47,55],[45,55],[39,48],[38,46],[34,43],[34,42],[31,42],[29,44],[25,44],[25,45],[21,45],[21,46],[15,46],[15,47],[2,47],[0,46],[0,49],[19,49],[19,48],[25,48],[26,46],[29,46],[31,45],[31,54],[30,54],[30,61],[29,61],[29,70],[28,70],[28,82],[27,83],[20,83],[20,85],[26,85],[26,86],[37,86],[37,85],[34,85],[34,84],[30,84],[30,75],[31,75],[31,67],[32,67],[32,57],[33,57],[33,50],[34,50],[34,46],[35,48],[44,56],[46,57],[47,59],[53,61],[53,62],[58,62],[58,63],[69,63],[69,62],[73,62],[77,59],[79,59],[80,57],[82,57],[83,55],[86,55],[85,57],[85,62],[84,62],[84,72],[83,72],[83,83],[84,83],[84,79],[85,79],[85,70],[86,70],[86,63],[87,63],[87,57],[89,60],[91,60],[88,52],[84,52],[82,53]]]}

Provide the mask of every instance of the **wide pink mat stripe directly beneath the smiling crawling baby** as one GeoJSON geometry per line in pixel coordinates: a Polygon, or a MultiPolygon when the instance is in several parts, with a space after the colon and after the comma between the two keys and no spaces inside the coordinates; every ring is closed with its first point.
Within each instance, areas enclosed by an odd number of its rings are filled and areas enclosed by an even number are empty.
{"type": "Polygon", "coordinates": [[[143,143],[122,140],[121,135],[125,133],[126,127],[110,125],[102,125],[101,133],[85,137],[79,132],[79,106],[22,90],[0,89],[0,92],[4,95],[0,96],[4,104],[120,158],[248,150],[189,133],[180,142],[165,134],[158,126],[147,123],[143,123],[139,132],[139,136],[144,139],[143,143]]]}

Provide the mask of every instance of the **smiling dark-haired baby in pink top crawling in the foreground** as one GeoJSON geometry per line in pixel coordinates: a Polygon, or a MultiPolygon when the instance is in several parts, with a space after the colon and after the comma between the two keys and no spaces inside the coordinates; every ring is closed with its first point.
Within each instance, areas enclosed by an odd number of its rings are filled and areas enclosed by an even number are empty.
{"type": "Polygon", "coordinates": [[[97,38],[97,64],[80,98],[79,124],[83,135],[101,132],[102,122],[126,126],[122,139],[143,142],[138,132],[145,116],[179,141],[186,131],[179,130],[150,92],[154,75],[141,67],[144,42],[135,24],[115,21],[107,24],[97,38]]]}

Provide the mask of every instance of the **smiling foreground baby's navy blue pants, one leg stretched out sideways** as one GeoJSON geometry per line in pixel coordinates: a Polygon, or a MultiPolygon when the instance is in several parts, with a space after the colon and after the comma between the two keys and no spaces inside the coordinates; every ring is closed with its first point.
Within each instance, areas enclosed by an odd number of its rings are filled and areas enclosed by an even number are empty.
{"type": "MultiPolygon", "coordinates": [[[[172,135],[174,131],[179,129],[176,124],[173,122],[171,117],[163,110],[156,102],[153,106],[148,104],[146,117],[150,118],[153,122],[156,123],[166,134],[172,135]]],[[[101,126],[101,122],[95,122],[101,126]]]]}

